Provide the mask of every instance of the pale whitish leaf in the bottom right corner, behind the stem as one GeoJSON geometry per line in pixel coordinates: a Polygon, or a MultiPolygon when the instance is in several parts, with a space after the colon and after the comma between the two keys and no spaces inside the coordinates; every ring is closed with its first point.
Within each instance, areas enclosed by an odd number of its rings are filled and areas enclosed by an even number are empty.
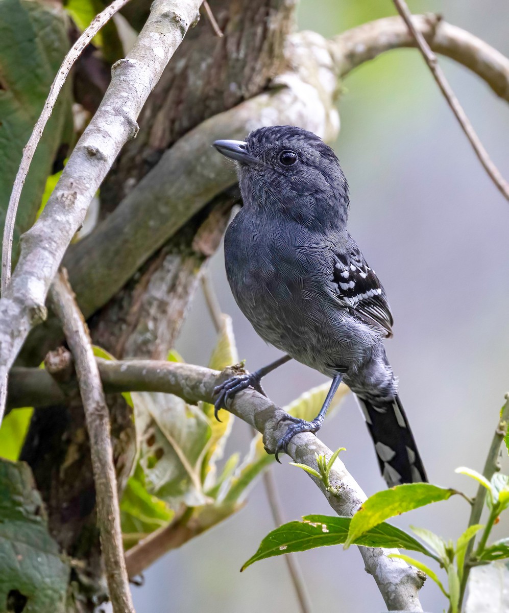
{"type": "Polygon", "coordinates": [[[509,569],[502,562],[474,566],[469,577],[466,613],[509,611],[509,569]]]}

